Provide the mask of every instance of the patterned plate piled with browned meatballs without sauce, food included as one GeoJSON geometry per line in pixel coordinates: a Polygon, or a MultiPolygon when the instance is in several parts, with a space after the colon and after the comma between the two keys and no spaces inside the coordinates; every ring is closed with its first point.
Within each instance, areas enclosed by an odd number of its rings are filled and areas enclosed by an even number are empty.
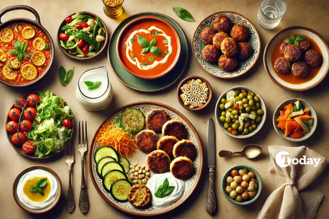
{"type": "Polygon", "coordinates": [[[246,73],[256,63],[260,39],[255,26],[243,15],[219,11],[197,26],[192,50],[200,67],[219,78],[233,78],[246,73]]]}

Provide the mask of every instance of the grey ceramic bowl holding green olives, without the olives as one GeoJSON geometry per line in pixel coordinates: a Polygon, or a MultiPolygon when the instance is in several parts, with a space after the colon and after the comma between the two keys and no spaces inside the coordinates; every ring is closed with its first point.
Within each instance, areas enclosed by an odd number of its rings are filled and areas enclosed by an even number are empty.
{"type": "Polygon", "coordinates": [[[245,139],[245,138],[249,138],[251,136],[254,136],[257,134],[257,132],[259,132],[259,130],[261,130],[261,128],[264,126],[265,120],[266,120],[266,106],[265,106],[265,102],[264,99],[262,98],[262,96],[255,90],[251,89],[250,87],[244,87],[244,86],[236,86],[236,87],[232,87],[230,89],[228,89],[227,91],[225,91],[224,93],[222,93],[222,95],[220,95],[220,97],[217,100],[216,103],[216,108],[215,108],[215,118],[216,118],[216,122],[218,124],[218,126],[220,127],[220,129],[228,136],[233,137],[233,138],[237,138],[237,139],[245,139]],[[235,90],[242,90],[245,89],[247,92],[254,92],[255,95],[259,98],[260,100],[260,104],[261,104],[261,109],[264,111],[264,114],[262,116],[262,121],[258,124],[257,128],[253,131],[253,132],[249,132],[246,135],[232,135],[231,133],[229,133],[227,131],[227,129],[224,128],[224,126],[222,125],[221,121],[219,121],[219,117],[220,117],[220,111],[221,109],[219,108],[219,105],[221,104],[221,99],[225,98],[226,99],[226,93],[229,91],[235,91],[235,90]]]}

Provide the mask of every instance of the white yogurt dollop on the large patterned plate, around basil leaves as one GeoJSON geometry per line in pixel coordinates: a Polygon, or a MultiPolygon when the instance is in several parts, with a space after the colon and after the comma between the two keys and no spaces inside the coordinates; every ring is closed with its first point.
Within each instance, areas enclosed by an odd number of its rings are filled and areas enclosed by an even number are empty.
{"type": "Polygon", "coordinates": [[[156,207],[165,207],[176,202],[185,191],[185,183],[183,180],[175,178],[170,172],[154,174],[148,181],[146,186],[150,189],[152,198],[151,204],[156,207]],[[169,186],[175,186],[174,190],[170,195],[164,196],[163,198],[155,197],[155,193],[160,185],[164,183],[165,178],[168,179],[169,186]]]}

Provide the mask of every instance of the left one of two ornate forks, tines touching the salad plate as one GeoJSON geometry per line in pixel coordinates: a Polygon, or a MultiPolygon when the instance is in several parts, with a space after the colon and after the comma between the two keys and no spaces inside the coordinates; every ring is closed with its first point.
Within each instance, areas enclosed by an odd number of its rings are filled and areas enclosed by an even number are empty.
{"type": "Polygon", "coordinates": [[[66,200],[66,209],[68,212],[72,213],[75,208],[73,190],[71,185],[71,170],[72,164],[74,163],[74,147],[72,143],[72,139],[69,139],[64,146],[65,150],[65,162],[68,164],[68,189],[67,189],[67,200],[66,200]]]}

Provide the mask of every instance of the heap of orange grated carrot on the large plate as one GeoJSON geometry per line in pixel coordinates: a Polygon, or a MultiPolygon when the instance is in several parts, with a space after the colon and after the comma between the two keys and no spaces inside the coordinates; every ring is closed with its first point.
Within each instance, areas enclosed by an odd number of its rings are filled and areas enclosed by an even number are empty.
{"type": "Polygon", "coordinates": [[[112,121],[109,121],[99,129],[96,141],[101,145],[114,147],[120,156],[132,157],[137,148],[135,140],[131,139],[132,136],[131,133],[125,132],[122,128],[114,126],[112,121]]]}

